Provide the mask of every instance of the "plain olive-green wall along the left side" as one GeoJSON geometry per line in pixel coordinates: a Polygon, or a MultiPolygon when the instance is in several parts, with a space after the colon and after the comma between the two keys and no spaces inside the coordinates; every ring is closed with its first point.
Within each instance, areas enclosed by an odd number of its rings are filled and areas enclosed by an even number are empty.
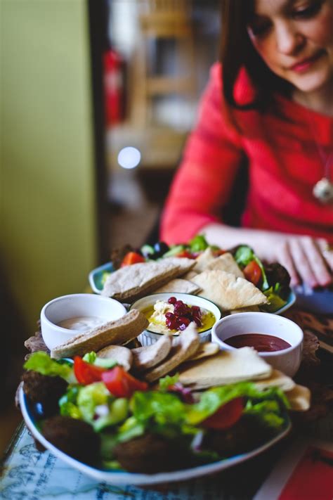
{"type": "Polygon", "coordinates": [[[0,0],[1,253],[34,331],[45,302],[84,291],[96,207],[84,0],[0,0]]]}

